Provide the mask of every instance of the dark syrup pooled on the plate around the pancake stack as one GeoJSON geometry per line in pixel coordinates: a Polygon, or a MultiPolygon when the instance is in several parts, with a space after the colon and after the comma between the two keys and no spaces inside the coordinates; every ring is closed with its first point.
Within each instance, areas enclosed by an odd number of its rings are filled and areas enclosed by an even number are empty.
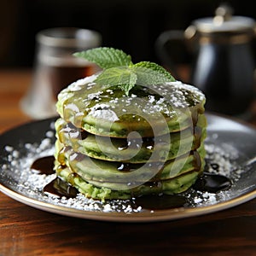
{"type": "MultiPolygon", "coordinates": [[[[54,171],[54,156],[46,156],[35,160],[32,163],[31,169],[39,174],[53,174],[54,171]]],[[[230,189],[231,181],[228,177],[215,173],[205,172],[197,179],[193,185],[193,189],[209,193],[217,193],[220,190],[230,189]]],[[[72,185],[56,177],[53,181],[44,186],[44,193],[66,196],[67,198],[76,197],[79,193],[72,185]]],[[[149,210],[164,210],[176,207],[185,207],[187,199],[183,195],[143,195],[137,197],[133,201],[135,207],[143,207],[149,210]]]]}

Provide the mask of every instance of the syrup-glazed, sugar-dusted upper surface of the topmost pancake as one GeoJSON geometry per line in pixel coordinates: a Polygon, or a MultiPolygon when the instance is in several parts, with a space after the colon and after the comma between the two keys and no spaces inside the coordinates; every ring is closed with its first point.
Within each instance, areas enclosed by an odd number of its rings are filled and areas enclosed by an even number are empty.
{"type": "Polygon", "coordinates": [[[96,119],[109,119],[115,114],[112,121],[121,115],[123,110],[131,112],[134,108],[141,109],[149,115],[160,113],[173,118],[178,109],[200,106],[205,102],[205,96],[189,84],[182,82],[168,82],[165,84],[154,84],[152,86],[138,86],[130,96],[126,96],[119,88],[104,89],[93,83],[96,76],[80,79],[61,90],[58,96],[57,111],[61,117],[70,112],[70,103],[78,108],[75,112],[90,114],[96,119]],[[119,96],[117,96],[117,94],[119,96]],[[143,96],[139,96],[142,94],[143,96]],[[69,103],[67,103],[69,102],[69,103]],[[100,109],[99,109],[100,108],[100,109]],[[127,109],[128,108],[128,109],[127,109]],[[119,112],[120,110],[120,112],[119,112]]]}

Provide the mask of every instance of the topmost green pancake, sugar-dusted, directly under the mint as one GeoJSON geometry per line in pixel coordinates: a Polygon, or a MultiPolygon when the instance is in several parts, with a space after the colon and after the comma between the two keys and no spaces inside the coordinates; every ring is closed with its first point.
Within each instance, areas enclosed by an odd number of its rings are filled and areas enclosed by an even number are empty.
{"type": "Polygon", "coordinates": [[[92,134],[160,136],[188,128],[204,113],[205,96],[188,84],[136,85],[126,96],[119,87],[104,89],[95,79],[91,76],[70,84],[56,104],[62,119],[92,134]]]}

